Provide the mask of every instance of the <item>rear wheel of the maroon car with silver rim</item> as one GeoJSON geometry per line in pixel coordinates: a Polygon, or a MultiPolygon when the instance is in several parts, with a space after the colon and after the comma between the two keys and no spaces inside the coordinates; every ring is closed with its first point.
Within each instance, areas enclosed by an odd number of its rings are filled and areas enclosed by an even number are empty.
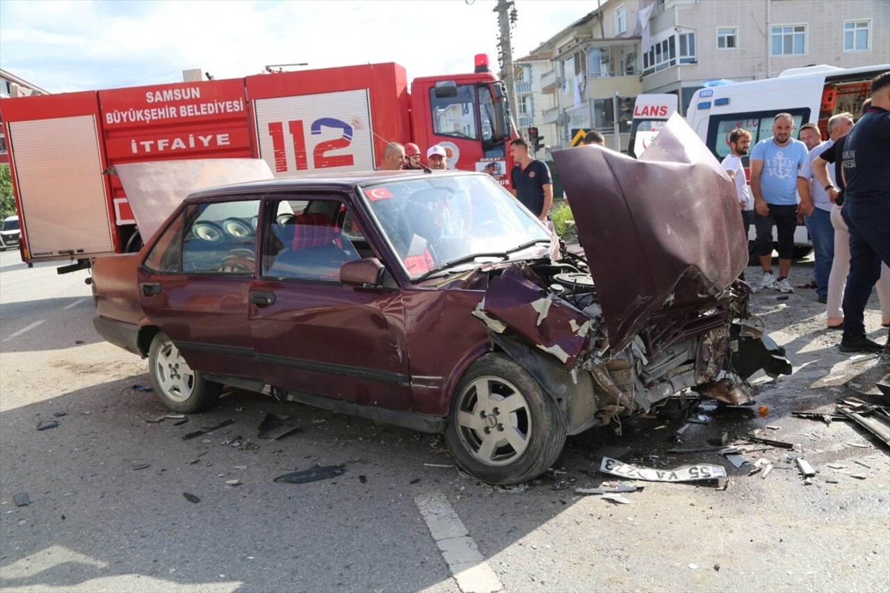
{"type": "Polygon", "coordinates": [[[179,348],[163,332],[151,340],[149,375],[161,402],[170,410],[193,414],[208,410],[219,401],[223,386],[191,370],[179,348]]]}

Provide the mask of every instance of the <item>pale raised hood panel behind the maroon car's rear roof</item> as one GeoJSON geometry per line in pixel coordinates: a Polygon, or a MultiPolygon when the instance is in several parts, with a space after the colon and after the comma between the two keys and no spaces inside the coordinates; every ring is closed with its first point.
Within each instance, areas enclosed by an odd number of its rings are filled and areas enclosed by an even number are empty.
{"type": "Polygon", "coordinates": [[[272,179],[262,158],[183,158],[116,165],[143,241],[192,191],[217,185],[272,179]]]}

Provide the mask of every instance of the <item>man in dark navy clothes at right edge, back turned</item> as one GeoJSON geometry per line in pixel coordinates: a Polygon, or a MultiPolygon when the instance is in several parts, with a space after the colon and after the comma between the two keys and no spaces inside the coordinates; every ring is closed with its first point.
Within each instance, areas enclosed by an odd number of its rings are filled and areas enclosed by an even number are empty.
{"type": "Polygon", "coordinates": [[[890,72],[871,81],[871,107],[846,134],[841,172],[844,207],[850,229],[850,273],[844,289],[844,336],[841,352],[878,352],[890,348],[865,334],[865,304],[890,265],[890,72]]]}

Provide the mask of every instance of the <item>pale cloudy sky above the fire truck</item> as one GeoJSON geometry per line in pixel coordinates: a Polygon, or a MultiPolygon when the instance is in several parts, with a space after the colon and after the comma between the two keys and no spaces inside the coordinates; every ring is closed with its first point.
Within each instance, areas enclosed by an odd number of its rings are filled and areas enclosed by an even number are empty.
{"type": "MultiPolygon", "coordinates": [[[[216,78],[268,64],[326,68],[395,61],[410,78],[498,71],[495,0],[0,0],[0,68],[52,93],[216,78]]],[[[515,0],[514,56],[583,17],[596,0],[515,0]]]]}

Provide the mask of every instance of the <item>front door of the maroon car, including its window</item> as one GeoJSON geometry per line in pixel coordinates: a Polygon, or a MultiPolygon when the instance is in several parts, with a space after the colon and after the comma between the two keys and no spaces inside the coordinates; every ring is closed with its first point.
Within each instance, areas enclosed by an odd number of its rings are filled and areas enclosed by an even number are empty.
{"type": "Polygon", "coordinates": [[[248,318],[267,382],[410,410],[401,292],[339,281],[344,262],[374,255],[343,199],[293,196],[264,212],[263,256],[250,285],[248,318]],[[291,205],[295,215],[281,215],[291,205]]]}

